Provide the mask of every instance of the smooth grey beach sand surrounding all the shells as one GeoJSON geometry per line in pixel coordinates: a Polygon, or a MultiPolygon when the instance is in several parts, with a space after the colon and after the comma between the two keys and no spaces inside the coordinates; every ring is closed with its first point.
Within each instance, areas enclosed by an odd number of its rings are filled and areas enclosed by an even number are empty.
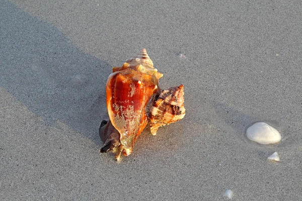
{"type": "Polygon", "coordinates": [[[0,5],[1,200],[302,200],[300,1],[0,5]],[[186,116],[116,163],[105,83],[142,48],[186,116]],[[281,142],[249,141],[257,121],[281,142]]]}

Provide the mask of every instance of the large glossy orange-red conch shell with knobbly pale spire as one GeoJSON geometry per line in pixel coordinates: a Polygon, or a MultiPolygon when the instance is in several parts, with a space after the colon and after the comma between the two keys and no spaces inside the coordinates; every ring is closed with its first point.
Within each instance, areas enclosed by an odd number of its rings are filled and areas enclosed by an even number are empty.
{"type": "Polygon", "coordinates": [[[159,93],[158,77],[162,76],[153,67],[145,49],[128,62],[122,67],[114,67],[106,84],[108,115],[120,133],[122,147],[118,152],[124,155],[132,152],[136,138],[148,123],[145,107],[150,97],[159,93]]]}

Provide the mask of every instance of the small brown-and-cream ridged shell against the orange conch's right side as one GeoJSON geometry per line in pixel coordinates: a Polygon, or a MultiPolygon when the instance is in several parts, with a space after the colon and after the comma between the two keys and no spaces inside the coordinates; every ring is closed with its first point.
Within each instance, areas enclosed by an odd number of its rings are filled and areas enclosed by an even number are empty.
{"type": "Polygon", "coordinates": [[[158,97],[154,97],[152,108],[148,112],[150,131],[156,135],[161,126],[177,122],[184,118],[184,85],[163,90],[158,97]]]}

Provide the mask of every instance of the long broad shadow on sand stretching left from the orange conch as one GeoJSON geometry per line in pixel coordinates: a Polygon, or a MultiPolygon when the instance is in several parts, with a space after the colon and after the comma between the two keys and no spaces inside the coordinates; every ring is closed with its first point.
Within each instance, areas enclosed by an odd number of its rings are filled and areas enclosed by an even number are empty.
{"type": "Polygon", "coordinates": [[[3,4],[0,85],[46,123],[59,120],[100,144],[111,66],[78,50],[50,23],[3,4]]]}

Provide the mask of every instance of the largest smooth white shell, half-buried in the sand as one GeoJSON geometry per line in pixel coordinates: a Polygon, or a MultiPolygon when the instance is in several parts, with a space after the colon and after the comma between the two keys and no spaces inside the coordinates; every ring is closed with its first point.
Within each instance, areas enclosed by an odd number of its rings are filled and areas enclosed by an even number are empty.
{"type": "Polygon", "coordinates": [[[249,127],[247,137],[259,144],[274,144],[281,140],[280,133],[264,122],[257,122],[249,127]]]}

